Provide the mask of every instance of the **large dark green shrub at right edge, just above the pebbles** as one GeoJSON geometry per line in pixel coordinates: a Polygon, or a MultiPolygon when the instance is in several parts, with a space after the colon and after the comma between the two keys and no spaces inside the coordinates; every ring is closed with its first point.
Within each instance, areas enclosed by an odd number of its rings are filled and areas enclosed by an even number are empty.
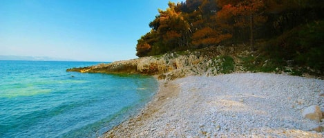
{"type": "Polygon", "coordinates": [[[278,38],[271,39],[259,51],[271,60],[294,60],[293,66],[310,67],[323,74],[324,21],[314,21],[295,27],[278,38]]]}

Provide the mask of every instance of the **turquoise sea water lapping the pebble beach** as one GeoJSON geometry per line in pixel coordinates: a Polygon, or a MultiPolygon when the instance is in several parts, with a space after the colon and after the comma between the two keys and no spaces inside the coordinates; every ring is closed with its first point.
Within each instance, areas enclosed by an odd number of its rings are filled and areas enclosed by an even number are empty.
{"type": "Polygon", "coordinates": [[[98,137],[158,89],[149,76],[66,72],[97,63],[0,61],[0,137],[98,137]]]}

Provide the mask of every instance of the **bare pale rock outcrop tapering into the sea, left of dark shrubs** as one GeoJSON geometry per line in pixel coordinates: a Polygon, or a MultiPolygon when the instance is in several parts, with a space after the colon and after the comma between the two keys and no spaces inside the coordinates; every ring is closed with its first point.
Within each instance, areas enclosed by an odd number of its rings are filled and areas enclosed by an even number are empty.
{"type": "Polygon", "coordinates": [[[159,79],[173,80],[185,76],[215,76],[244,71],[240,57],[249,54],[247,47],[208,47],[198,51],[182,51],[109,64],[67,69],[81,73],[140,73],[159,79]],[[239,50],[238,50],[239,49],[239,50]],[[236,53],[240,51],[240,53],[236,53]]]}

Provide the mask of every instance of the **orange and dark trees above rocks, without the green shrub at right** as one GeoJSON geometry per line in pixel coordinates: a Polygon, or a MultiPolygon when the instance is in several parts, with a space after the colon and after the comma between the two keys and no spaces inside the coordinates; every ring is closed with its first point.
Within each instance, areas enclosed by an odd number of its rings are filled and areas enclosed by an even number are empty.
{"type": "Polygon", "coordinates": [[[226,43],[254,47],[256,40],[323,19],[324,13],[323,0],[187,0],[168,5],[137,41],[137,56],[226,43]]]}

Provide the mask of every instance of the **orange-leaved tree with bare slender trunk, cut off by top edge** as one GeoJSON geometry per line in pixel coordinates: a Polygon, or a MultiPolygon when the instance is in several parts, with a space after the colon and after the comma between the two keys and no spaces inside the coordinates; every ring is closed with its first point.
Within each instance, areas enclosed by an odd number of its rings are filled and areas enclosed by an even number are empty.
{"type": "Polygon", "coordinates": [[[218,25],[236,35],[240,33],[234,32],[234,28],[240,29],[242,36],[245,36],[244,30],[249,28],[250,45],[254,50],[254,26],[267,21],[267,17],[263,16],[265,3],[259,0],[218,0],[218,6],[222,6],[222,10],[216,15],[218,25]]]}

